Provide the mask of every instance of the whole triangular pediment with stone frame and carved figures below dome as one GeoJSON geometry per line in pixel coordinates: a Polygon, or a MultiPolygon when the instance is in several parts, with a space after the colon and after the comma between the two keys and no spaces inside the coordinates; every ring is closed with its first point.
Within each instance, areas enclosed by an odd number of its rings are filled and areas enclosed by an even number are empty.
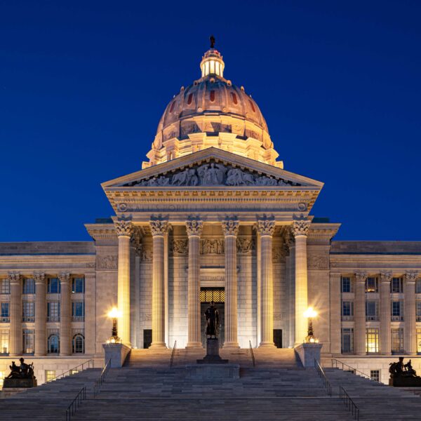
{"type": "Polygon", "coordinates": [[[194,187],[316,187],[323,183],[221,149],[208,148],[102,184],[106,190],[194,187]]]}

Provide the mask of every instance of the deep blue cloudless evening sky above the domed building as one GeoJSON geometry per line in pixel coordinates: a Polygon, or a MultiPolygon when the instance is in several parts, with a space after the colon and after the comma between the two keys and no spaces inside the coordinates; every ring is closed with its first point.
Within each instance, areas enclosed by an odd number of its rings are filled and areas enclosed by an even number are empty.
{"type": "Polygon", "coordinates": [[[0,241],[85,240],[208,36],[337,239],[421,240],[421,2],[0,0],[0,241]]]}

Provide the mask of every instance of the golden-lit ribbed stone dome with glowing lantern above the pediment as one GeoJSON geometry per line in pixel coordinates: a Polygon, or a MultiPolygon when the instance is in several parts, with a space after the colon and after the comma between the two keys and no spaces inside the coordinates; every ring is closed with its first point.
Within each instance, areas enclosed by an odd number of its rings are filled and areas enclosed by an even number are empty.
{"type": "Polygon", "coordinates": [[[159,121],[149,162],[142,168],[192,154],[207,147],[247,156],[283,168],[276,161],[267,123],[260,108],[243,86],[223,76],[225,63],[215,48],[201,60],[201,79],[194,81],[168,103],[159,121]]]}

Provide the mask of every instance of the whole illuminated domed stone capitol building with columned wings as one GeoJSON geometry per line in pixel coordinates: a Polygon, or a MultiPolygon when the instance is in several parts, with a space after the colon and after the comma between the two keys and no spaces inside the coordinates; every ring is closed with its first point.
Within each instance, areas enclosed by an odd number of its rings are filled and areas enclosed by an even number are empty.
{"type": "Polygon", "coordinates": [[[322,363],[382,382],[398,355],[420,370],[421,243],[335,241],[340,223],[312,215],[323,182],[284,169],[213,45],[197,76],[142,168],[102,183],[115,214],[85,225],[92,241],[0,243],[0,382],[20,356],[39,384],[100,366],[112,307],[132,349],[200,349],[211,301],[222,349],[297,347],[313,307],[322,363]]]}

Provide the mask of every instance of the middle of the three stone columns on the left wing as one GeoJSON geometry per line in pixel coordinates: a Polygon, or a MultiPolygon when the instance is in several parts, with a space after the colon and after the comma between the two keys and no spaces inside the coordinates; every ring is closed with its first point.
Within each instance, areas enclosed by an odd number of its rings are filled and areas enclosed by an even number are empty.
{"type": "Polygon", "coordinates": [[[46,354],[46,276],[34,274],[35,280],[35,349],[34,356],[46,354]]]}

